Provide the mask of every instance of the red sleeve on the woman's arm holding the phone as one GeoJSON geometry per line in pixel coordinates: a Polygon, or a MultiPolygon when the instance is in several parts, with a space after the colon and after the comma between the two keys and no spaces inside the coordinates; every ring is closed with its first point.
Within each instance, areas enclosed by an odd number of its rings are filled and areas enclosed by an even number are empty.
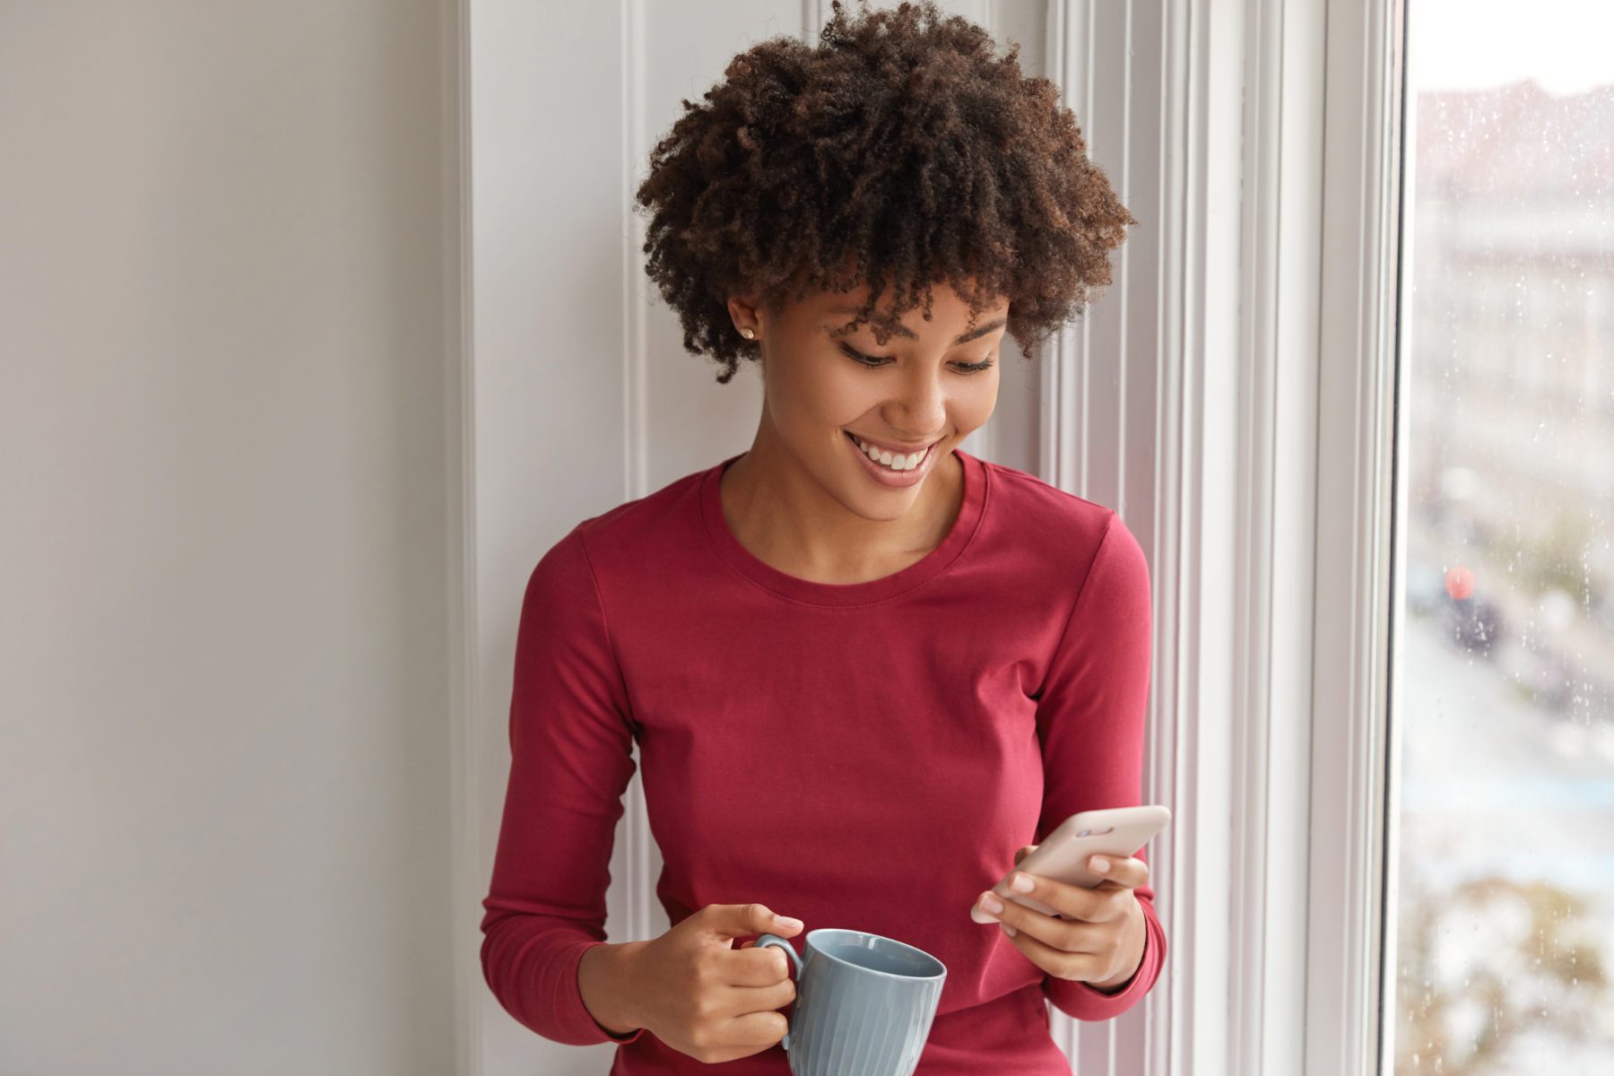
{"type": "MultiPolygon", "coordinates": [[[[1038,695],[1043,813],[1033,844],[1077,811],[1141,803],[1151,639],[1149,565],[1112,513],[1038,695]]],[[[1114,994],[1044,974],[1043,994],[1062,1013],[1077,1020],[1119,1016],[1160,976],[1165,931],[1154,911],[1154,889],[1133,892],[1144,920],[1136,973],[1114,994]]]]}

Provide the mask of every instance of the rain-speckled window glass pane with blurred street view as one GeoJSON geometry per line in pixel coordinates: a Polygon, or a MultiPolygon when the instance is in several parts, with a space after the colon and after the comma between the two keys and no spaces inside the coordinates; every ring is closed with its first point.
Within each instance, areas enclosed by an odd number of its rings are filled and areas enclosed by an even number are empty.
{"type": "Polygon", "coordinates": [[[1394,1071],[1614,1073],[1614,5],[1407,0],[1394,1071]]]}

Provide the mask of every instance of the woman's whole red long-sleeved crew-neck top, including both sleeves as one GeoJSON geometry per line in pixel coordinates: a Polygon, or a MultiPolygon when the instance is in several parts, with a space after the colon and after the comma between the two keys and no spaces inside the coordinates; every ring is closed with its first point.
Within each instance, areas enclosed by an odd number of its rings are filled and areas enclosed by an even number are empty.
{"type": "Polygon", "coordinates": [[[584,519],[537,561],[481,924],[483,973],[515,1020],[618,1042],[613,1076],[789,1073],[778,1044],[713,1068],[584,1008],[578,961],[605,940],[636,766],[671,923],[755,900],[805,923],[797,953],[834,926],[946,965],[920,1076],[1068,1073],[1044,999],[1107,1020],[1154,986],[1152,889],[1136,890],[1148,940],[1117,994],[1046,974],[970,918],[1020,845],[1073,811],[1141,802],[1151,603],[1112,510],[954,453],[952,528],[880,579],[815,582],[747,552],[720,498],[738,455],[584,519]]]}

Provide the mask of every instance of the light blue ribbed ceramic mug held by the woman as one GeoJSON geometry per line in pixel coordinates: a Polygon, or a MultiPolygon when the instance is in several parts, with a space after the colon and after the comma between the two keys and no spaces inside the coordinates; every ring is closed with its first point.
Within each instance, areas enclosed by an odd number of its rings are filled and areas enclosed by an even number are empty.
{"type": "Polygon", "coordinates": [[[805,957],[778,934],[796,968],[791,1029],[780,1045],[794,1076],[912,1076],[930,1037],[947,966],[868,931],[807,931],[805,957]]]}

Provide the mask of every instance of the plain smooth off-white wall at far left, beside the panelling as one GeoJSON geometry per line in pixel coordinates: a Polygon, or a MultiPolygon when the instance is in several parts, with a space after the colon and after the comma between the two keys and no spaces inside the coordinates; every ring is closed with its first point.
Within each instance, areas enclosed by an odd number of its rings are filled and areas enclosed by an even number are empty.
{"type": "Polygon", "coordinates": [[[3,1073],[454,1070],[439,6],[0,5],[3,1073]]]}

